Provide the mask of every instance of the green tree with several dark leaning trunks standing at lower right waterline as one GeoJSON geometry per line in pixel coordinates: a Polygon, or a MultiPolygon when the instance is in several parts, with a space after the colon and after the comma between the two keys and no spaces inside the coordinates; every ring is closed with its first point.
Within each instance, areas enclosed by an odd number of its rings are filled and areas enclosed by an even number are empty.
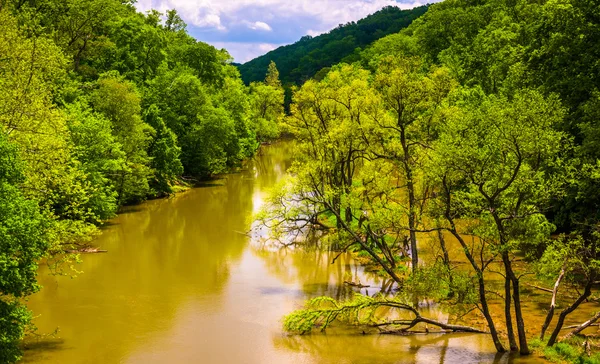
{"type": "Polygon", "coordinates": [[[553,130],[564,111],[556,98],[529,90],[512,100],[467,91],[461,100],[462,110],[448,119],[434,144],[429,170],[440,191],[437,212],[478,277],[481,311],[498,351],[504,348],[487,305],[484,274],[496,256],[501,258],[510,349],[528,354],[520,275],[512,259],[527,244],[544,243],[552,232],[543,212],[558,188],[548,166],[564,138],[553,130]],[[477,237],[472,245],[466,242],[469,235],[477,237]]]}

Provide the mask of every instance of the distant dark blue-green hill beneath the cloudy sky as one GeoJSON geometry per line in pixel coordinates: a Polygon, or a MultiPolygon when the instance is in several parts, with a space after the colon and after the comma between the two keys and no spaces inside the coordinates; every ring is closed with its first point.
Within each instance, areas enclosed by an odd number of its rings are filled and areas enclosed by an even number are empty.
{"type": "Polygon", "coordinates": [[[399,32],[427,11],[428,6],[400,10],[388,6],[368,17],[340,25],[317,37],[309,35],[298,42],[279,47],[264,56],[239,66],[246,83],[262,81],[271,61],[277,64],[283,83],[301,84],[324,67],[330,67],[344,58],[359,58],[357,48],[363,48],[386,35],[399,32]]]}

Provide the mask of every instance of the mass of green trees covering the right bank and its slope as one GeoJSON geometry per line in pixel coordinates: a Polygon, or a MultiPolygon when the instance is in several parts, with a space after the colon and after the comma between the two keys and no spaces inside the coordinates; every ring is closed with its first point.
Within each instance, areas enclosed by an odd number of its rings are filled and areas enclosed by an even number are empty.
{"type": "MultiPolygon", "coordinates": [[[[285,127],[299,140],[297,162],[264,223],[276,234],[316,229],[332,248],[369,256],[415,302],[476,309],[499,352],[530,352],[526,277],[561,290],[567,281],[571,297],[549,302],[541,328],[553,346],[600,276],[598,9],[446,0],[315,76],[294,94],[285,127]],[[435,259],[423,262],[426,247],[435,259]],[[436,293],[405,285],[415,277],[436,293]]],[[[329,326],[348,305],[370,315],[352,302],[312,303],[288,329],[329,326]]]]}

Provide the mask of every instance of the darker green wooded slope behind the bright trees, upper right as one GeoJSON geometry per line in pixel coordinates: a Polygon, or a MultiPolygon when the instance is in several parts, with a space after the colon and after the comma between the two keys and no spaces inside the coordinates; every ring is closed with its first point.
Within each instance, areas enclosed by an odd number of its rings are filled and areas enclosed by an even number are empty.
{"type": "Polygon", "coordinates": [[[555,93],[567,109],[557,129],[572,135],[573,185],[552,209],[561,230],[600,218],[597,141],[600,36],[598,3],[573,1],[444,1],[405,31],[382,38],[363,53],[419,55],[444,64],[463,85],[511,97],[519,88],[555,93]],[[585,202],[582,199],[585,198],[585,202]]]}

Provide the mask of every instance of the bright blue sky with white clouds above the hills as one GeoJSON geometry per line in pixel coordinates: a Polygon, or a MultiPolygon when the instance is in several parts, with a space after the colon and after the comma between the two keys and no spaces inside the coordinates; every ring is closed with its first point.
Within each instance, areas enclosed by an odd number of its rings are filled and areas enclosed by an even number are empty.
{"type": "MultiPolygon", "coordinates": [[[[429,1],[431,2],[431,1],[429,1]]],[[[419,0],[137,0],[139,11],[176,9],[196,39],[225,48],[245,63],[305,35],[317,36],[385,6],[419,0]]]]}

